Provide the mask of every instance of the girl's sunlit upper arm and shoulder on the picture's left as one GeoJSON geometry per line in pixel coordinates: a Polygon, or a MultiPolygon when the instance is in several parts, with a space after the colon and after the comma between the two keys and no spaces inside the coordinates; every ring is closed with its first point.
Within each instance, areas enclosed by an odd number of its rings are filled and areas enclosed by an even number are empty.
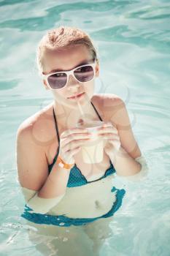
{"type": "Polygon", "coordinates": [[[50,109],[45,108],[26,118],[18,127],[16,158],[18,178],[22,187],[39,190],[48,176],[47,120],[50,109]],[[35,171],[36,170],[36,171],[35,171]]]}

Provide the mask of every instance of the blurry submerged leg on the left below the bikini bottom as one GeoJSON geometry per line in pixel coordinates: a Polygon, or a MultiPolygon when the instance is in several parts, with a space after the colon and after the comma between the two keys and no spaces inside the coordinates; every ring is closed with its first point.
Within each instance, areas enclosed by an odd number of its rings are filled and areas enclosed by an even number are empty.
{"type": "Polygon", "coordinates": [[[82,226],[58,227],[31,223],[30,241],[42,255],[86,256],[92,255],[92,243],[82,226]]]}

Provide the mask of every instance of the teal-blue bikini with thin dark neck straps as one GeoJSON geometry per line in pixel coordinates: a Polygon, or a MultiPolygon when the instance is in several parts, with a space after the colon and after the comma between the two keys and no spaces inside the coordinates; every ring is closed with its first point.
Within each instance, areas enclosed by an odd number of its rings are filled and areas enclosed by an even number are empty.
{"type": "MultiPolygon", "coordinates": [[[[91,104],[93,105],[93,103],[91,102],[91,104]]],[[[94,110],[96,111],[98,118],[101,119],[101,116],[99,116],[95,106],[93,105],[94,110]]],[[[55,117],[55,112],[53,110],[53,117],[55,120],[55,129],[57,132],[57,136],[58,136],[58,152],[55,155],[54,159],[53,159],[53,163],[51,165],[49,165],[49,173],[53,168],[53,165],[55,164],[56,159],[58,158],[58,153],[59,153],[59,147],[60,147],[60,137],[59,137],[59,132],[58,132],[58,125],[57,125],[57,120],[55,117]]],[[[95,181],[99,181],[102,178],[106,178],[107,176],[112,175],[113,173],[115,173],[115,168],[112,165],[112,162],[109,160],[110,162],[110,166],[109,168],[106,170],[106,172],[104,173],[104,176],[102,176],[101,178],[98,178],[95,181]]],[[[82,175],[81,170],[77,167],[77,165],[75,164],[74,167],[72,167],[72,169],[70,170],[70,175],[69,175],[69,181],[67,183],[67,187],[80,187],[80,186],[84,186],[86,184],[89,184],[91,182],[95,182],[95,181],[87,181],[87,179],[85,178],[85,176],[82,175]]],[[[25,206],[24,208],[24,212],[21,215],[21,217],[28,219],[30,222],[35,222],[37,224],[46,224],[46,225],[58,225],[58,226],[63,226],[63,227],[68,227],[70,225],[85,225],[89,222],[93,222],[96,219],[101,219],[101,218],[107,218],[107,217],[111,217],[115,211],[118,210],[118,208],[120,208],[121,204],[122,204],[122,199],[123,196],[125,195],[125,190],[124,189],[116,189],[115,187],[112,187],[111,192],[116,192],[116,200],[115,203],[113,203],[112,208],[110,209],[109,212],[107,212],[107,214],[102,215],[101,217],[96,217],[96,218],[69,218],[66,217],[64,215],[50,215],[50,214],[35,214],[35,213],[31,213],[32,209],[28,207],[28,205],[25,206]]]]}

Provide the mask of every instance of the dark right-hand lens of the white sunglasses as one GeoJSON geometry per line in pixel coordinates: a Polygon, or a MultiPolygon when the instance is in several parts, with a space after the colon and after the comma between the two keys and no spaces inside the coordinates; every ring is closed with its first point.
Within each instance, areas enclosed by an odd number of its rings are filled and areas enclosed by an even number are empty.
{"type": "Polygon", "coordinates": [[[92,80],[94,77],[93,67],[79,67],[76,70],[74,70],[74,75],[80,82],[88,82],[92,80]]]}

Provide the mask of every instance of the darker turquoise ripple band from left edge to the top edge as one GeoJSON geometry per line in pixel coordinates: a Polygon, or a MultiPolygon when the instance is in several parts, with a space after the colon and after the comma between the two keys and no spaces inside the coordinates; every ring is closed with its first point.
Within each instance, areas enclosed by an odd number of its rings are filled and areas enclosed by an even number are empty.
{"type": "Polygon", "coordinates": [[[70,4],[57,4],[45,10],[47,15],[34,18],[18,18],[16,20],[6,20],[0,23],[0,28],[18,28],[20,31],[43,31],[52,28],[54,24],[61,20],[61,14],[66,11],[83,11],[88,12],[107,12],[117,5],[123,6],[131,1],[101,1],[96,3],[76,2],[70,4]]]}

